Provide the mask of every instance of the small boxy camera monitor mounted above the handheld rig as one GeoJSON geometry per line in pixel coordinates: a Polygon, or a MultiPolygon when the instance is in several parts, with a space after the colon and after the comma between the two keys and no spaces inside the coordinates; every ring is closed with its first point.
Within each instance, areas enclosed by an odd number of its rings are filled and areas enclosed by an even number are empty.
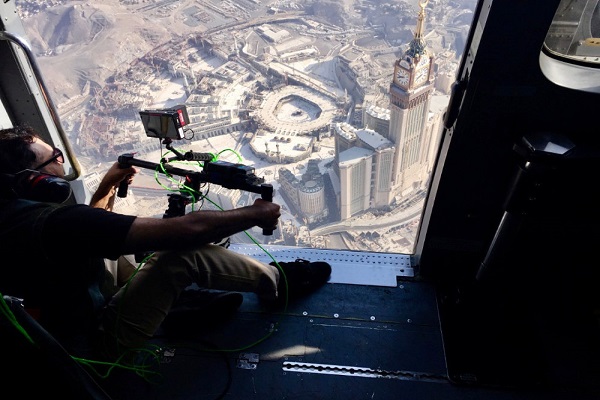
{"type": "Polygon", "coordinates": [[[140,111],[140,118],[146,136],[161,139],[183,139],[183,127],[190,120],[185,106],[176,106],[166,110],[140,111]]]}

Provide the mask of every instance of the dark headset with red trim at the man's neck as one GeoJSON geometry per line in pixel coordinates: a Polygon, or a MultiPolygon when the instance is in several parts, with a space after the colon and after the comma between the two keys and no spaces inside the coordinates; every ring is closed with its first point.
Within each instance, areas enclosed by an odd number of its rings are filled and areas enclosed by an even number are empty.
{"type": "Polygon", "coordinates": [[[0,174],[0,192],[10,198],[60,204],[67,201],[73,190],[59,176],[24,169],[15,174],[0,174]]]}

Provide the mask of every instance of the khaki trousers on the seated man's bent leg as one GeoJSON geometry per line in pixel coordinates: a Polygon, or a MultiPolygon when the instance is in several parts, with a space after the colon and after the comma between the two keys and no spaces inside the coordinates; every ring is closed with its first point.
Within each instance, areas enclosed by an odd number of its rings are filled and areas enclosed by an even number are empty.
{"type": "Polygon", "coordinates": [[[116,338],[125,349],[139,348],[151,339],[179,294],[192,283],[254,292],[264,299],[277,297],[276,267],[212,244],[194,251],[157,252],[137,270],[132,256],[116,262],[116,273],[114,267],[117,284],[125,284],[110,299],[102,325],[105,339],[116,338]]]}

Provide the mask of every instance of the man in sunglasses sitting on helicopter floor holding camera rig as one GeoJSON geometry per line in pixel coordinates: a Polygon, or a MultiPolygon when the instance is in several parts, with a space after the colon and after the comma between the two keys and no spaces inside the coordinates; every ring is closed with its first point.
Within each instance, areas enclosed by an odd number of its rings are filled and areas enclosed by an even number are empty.
{"type": "Polygon", "coordinates": [[[143,347],[193,283],[275,301],[285,295],[282,288],[304,294],[329,278],[324,262],[280,263],[280,276],[275,262],[211,244],[254,226],[275,229],[275,203],[257,199],[234,210],[164,219],[118,214],[111,211],[117,188],[137,170],[115,163],[90,205],[61,204],[70,194],[63,162],[62,152],[33,129],[0,130],[0,293],[39,310],[39,322],[72,355],[89,356],[99,345],[113,356],[143,347]],[[154,255],[127,285],[116,293],[101,291],[105,259],[150,251],[154,255]]]}

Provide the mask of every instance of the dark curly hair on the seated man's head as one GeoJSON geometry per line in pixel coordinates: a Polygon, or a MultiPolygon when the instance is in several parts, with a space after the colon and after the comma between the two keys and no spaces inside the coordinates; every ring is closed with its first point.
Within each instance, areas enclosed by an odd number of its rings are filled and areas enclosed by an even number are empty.
{"type": "Polygon", "coordinates": [[[39,137],[26,124],[0,130],[0,173],[14,174],[33,168],[36,154],[30,145],[39,137]]]}

